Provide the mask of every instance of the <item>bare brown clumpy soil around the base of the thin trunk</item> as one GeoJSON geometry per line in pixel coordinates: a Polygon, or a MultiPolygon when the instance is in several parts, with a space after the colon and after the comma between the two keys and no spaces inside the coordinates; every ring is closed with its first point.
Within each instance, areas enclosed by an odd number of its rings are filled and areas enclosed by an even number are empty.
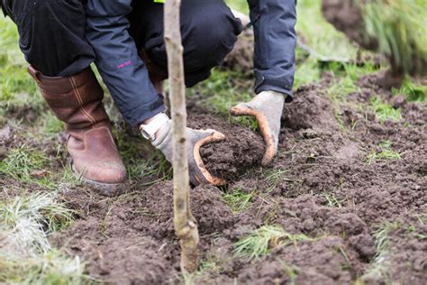
{"type": "MultiPolygon", "coordinates": [[[[301,87],[295,101],[286,105],[279,152],[268,169],[258,165],[263,152],[258,133],[189,104],[190,125],[216,128],[228,136],[202,152],[208,168],[230,181],[226,188],[192,190],[203,253],[195,282],[425,284],[425,104],[392,97],[370,76],[359,80],[359,91],[337,112],[325,91],[330,81],[326,74],[319,84],[301,87]],[[368,106],[374,94],[400,107],[404,119],[379,123],[368,106]],[[384,141],[391,142],[401,159],[365,161],[384,141]],[[221,162],[216,169],[211,159],[221,162]],[[250,207],[240,213],[222,198],[235,189],[253,193],[250,207]],[[288,233],[312,239],[272,248],[258,261],[236,257],[233,243],[260,225],[281,225],[288,233]],[[384,225],[393,226],[386,253],[378,257],[374,233],[384,225]],[[380,275],[372,273],[375,260],[380,275]]],[[[136,183],[118,198],[71,188],[63,198],[80,214],[51,240],[81,256],[87,273],[115,284],[182,281],[171,181],[150,187],[136,183]]]]}

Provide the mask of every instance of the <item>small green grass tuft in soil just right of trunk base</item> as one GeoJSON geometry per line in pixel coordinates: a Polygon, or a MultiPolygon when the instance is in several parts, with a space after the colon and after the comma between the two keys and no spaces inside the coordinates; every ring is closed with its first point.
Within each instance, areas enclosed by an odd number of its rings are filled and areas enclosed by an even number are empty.
{"type": "Polygon", "coordinates": [[[263,225],[234,244],[236,256],[258,260],[277,246],[311,241],[305,234],[289,234],[281,226],[263,225]]]}

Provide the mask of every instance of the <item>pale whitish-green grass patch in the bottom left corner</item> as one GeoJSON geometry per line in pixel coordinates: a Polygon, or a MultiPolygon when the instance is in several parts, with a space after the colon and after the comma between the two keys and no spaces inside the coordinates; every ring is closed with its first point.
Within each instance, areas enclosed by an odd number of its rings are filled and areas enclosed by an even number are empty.
{"type": "Polygon", "coordinates": [[[0,201],[0,282],[81,284],[88,280],[78,257],[52,248],[50,234],[68,227],[75,212],[54,193],[25,193],[0,201]]]}

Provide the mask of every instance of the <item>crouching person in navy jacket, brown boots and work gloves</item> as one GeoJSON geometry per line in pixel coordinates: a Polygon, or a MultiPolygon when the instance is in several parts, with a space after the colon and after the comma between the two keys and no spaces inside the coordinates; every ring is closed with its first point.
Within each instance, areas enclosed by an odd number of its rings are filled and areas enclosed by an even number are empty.
{"type": "MultiPolygon", "coordinates": [[[[172,122],[164,113],[161,82],[168,77],[161,0],[0,0],[18,26],[20,48],[41,94],[68,132],[73,170],[106,193],[126,179],[102,104],[95,62],[114,102],[131,126],[172,160],[172,122]]],[[[232,108],[254,115],[266,142],[263,163],[277,152],[280,115],[292,99],[295,0],[250,0],[255,30],[258,94],[232,108]]],[[[208,78],[232,51],[241,21],[223,0],[183,0],[181,32],[186,86],[208,78]]],[[[214,131],[187,129],[190,180],[216,184],[198,152],[214,131]]]]}

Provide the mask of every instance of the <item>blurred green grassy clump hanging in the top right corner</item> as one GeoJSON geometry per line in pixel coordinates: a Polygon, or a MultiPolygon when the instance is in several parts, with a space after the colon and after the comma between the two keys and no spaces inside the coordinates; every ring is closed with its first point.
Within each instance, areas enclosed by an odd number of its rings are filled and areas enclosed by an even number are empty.
{"type": "Polygon", "coordinates": [[[404,74],[427,72],[427,1],[373,0],[362,6],[369,37],[377,50],[404,74]]]}

